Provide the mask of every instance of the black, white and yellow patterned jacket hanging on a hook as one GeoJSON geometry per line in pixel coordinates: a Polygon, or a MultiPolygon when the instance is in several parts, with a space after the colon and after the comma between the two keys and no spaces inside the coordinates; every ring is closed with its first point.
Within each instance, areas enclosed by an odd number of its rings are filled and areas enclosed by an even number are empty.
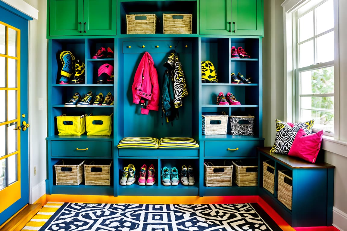
{"type": "Polygon", "coordinates": [[[182,106],[182,98],[188,95],[188,90],[186,86],[186,79],[184,77],[182,64],[178,59],[175,52],[171,53],[168,57],[168,61],[164,63],[164,66],[171,71],[171,78],[174,82],[174,105],[175,108],[182,106]]]}

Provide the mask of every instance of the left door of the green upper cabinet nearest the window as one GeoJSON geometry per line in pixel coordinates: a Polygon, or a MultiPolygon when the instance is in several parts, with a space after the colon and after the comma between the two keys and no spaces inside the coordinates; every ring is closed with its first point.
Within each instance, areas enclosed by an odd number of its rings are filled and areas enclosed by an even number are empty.
{"type": "Polygon", "coordinates": [[[200,0],[200,34],[232,34],[231,0],[200,0]]]}

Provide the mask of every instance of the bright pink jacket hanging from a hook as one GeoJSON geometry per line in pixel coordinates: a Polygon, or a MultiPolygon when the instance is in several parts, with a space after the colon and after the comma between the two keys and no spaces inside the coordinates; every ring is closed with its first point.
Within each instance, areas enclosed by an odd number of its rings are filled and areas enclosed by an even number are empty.
{"type": "Polygon", "coordinates": [[[160,90],[158,83],[158,73],[154,67],[154,62],[150,53],[145,52],[135,72],[132,86],[133,103],[141,103],[145,108],[141,108],[141,114],[148,115],[149,110],[159,110],[160,90]]]}

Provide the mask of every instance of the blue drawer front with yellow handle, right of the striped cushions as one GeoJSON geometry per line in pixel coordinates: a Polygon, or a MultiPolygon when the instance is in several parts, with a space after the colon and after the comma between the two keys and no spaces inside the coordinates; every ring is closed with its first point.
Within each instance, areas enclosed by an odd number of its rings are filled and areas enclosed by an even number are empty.
{"type": "Polygon", "coordinates": [[[255,148],[261,146],[260,141],[205,141],[204,144],[205,157],[255,157],[255,148]]]}

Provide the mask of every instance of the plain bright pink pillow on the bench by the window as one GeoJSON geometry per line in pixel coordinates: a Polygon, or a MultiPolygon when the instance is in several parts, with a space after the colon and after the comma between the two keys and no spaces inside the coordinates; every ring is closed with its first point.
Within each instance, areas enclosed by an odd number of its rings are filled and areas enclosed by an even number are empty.
{"type": "Polygon", "coordinates": [[[288,156],[299,157],[308,162],[316,161],[318,152],[321,148],[323,130],[306,135],[305,131],[300,128],[290,147],[288,156]]]}

